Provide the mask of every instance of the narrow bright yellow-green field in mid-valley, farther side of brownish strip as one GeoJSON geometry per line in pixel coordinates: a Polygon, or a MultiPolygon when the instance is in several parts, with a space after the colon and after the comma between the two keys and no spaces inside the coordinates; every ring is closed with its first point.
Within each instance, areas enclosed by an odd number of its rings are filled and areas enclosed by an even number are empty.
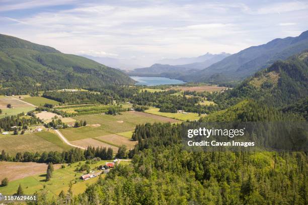
{"type": "Polygon", "coordinates": [[[182,114],[182,113],[162,113],[160,112],[159,108],[150,108],[148,110],[144,111],[145,113],[153,114],[153,115],[158,115],[158,116],[164,116],[167,118],[174,118],[182,121],[194,121],[194,120],[199,120],[200,116],[198,116],[197,113],[188,113],[188,114],[182,114]]]}

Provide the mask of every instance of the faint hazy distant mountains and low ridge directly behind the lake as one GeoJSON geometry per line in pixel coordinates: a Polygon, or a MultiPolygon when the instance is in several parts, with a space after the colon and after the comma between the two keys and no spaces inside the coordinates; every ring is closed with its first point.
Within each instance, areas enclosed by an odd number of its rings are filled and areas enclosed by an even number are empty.
{"type": "Polygon", "coordinates": [[[164,76],[171,78],[179,78],[190,72],[204,69],[213,63],[216,63],[225,57],[229,56],[228,53],[210,54],[194,57],[194,58],[178,58],[178,59],[164,59],[161,62],[178,63],[176,65],[170,64],[153,64],[146,68],[136,68],[129,71],[129,75],[143,75],[143,76],[164,76]],[[188,64],[182,64],[189,62],[188,64]]]}

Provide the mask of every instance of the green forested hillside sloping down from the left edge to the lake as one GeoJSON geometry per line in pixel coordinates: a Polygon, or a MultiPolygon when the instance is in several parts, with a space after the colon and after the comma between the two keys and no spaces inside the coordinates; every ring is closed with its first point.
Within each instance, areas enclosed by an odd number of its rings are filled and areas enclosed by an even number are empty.
{"type": "Polygon", "coordinates": [[[131,84],[126,74],[93,60],[0,34],[0,88],[5,94],[131,84]]]}

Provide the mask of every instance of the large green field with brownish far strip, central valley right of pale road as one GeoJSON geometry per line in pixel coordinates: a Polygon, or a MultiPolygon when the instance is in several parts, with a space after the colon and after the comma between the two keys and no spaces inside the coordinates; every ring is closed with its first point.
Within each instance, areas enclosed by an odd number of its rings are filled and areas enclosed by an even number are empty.
{"type": "Polygon", "coordinates": [[[137,124],[144,124],[146,122],[179,122],[174,119],[141,112],[123,112],[122,115],[117,116],[95,114],[73,117],[73,119],[78,121],[86,120],[88,126],[61,130],[61,133],[69,141],[127,132],[134,130],[137,124]]]}

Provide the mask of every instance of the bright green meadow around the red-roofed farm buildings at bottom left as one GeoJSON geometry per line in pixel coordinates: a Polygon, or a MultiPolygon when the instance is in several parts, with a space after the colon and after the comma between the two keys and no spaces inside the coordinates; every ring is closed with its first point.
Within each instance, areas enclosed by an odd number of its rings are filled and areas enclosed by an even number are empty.
{"type": "MultiPolygon", "coordinates": [[[[91,169],[94,170],[96,167],[98,167],[99,165],[104,165],[106,162],[107,162],[106,160],[102,160],[96,162],[95,164],[89,164],[89,165],[91,169]]],[[[10,162],[10,163],[16,163],[16,162],[10,162]]],[[[81,164],[85,164],[85,161],[81,162],[81,164]]],[[[46,164],[43,165],[47,167],[46,164]]],[[[59,165],[54,165],[54,168],[56,168],[56,166],[59,165]]],[[[76,162],[72,163],[70,166],[65,164],[65,168],[55,169],[52,173],[51,179],[47,182],[45,181],[46,170],[43,170],[40,173],[35,173],[35,175],[28,176],[22,179],[9,181],[8,186],[0,187],[0,192],[2,194],[14,194],[16,193],[19,184],[21,184],[25,194],[33,194],[37,190],[42,190],[45,186],[45,189],[47,190],[47,197],[52,198],[56,197],[61,192],[61,190],[67,192],[69,182],[72,181],[73,194],[79,194],[86,190],[87,184],[95,183],[98,179],[98,177],[91,178],[86,181],[79,179],[83,173],[74,171],[79,166],[80,166],[79,162],[76,162]]],[[[16,168],[18,169],[18,167],[16,168]]],[[[12,172],[14,173],[15,169],[12,169],[12,172]]],[[[101,171],[96,169],[95,174],[99,173],[101,173],[101,171]]],[[[105,174],[103,174],[102,177],[105,177],[105,174]]]]}

